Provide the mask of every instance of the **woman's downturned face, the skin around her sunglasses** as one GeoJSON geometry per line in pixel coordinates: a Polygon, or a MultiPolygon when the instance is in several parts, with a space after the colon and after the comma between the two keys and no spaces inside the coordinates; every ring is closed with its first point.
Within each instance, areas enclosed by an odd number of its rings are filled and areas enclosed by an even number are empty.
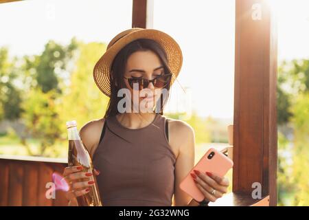
{"type": "MultiPolygon", "coordinates": [[[[159,94],[161,94],[161,89],[155,88],[152,83],[149,83],[146,89],[139,91],[137,87],[133,93],[133,89],[130,87],[126,78],[141,77],[152,80],[162,74],[164,74],[163,65],[157,54],[154,52],[150,50],[135,52],[128,57],[124,72],[124,82],[126,87],[130,89],[131,101],[133,102],[133,95],[138,96],[137,99],[139,100],[139,109],[141,106],[145,106],[146,108],[155,107],[155,103],[157,103],[157,100],[160,98],[159,94]]],[[[137,107],[137,103],[133,102],[133,104],[134,107],[137,107]]]]}

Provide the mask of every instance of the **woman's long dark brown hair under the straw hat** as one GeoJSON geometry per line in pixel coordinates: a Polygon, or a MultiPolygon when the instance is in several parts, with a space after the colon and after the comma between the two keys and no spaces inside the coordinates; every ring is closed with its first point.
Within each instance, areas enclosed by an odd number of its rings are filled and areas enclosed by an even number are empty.
{"type": "MultiPolygon", "coordinates": [[[[108,102],[108,106],[106,109],[106,113],[104,118],[108,118],[109,116],[117,115],[119,113],[117,109],[117,104],[122,97],[117,97],[119,89],[126,87],[124,82],[124,72],[126,68],[126,62],[128,61],[128,57],[133,54],[134,52],[139,51],[152,51],[159,57],[163,69],[164,74],[170,74],[170,68],[168,67],[168,57],[165,53],[165,50],[157,43],[151,39],[137,39],[131,43],[128,43],[125,47],[122,48],[115,56],[113,63],[111,65],[111,78],[110,78],[110,87],[111,87],[111,98],[108,102]]],[[[160,114],[163,114],[163,107],[165,106],[166,102],[168,101],[169,91],[170,91],[170,84],[166,85],[165,89],[168,89],[167,96],[162,96],[159,98],[160,103],[160,114]],[[164,97],[164,98],[163,98],[164,97]]],[[[158,104],[158,103],[157,103],[158,104]]]]}

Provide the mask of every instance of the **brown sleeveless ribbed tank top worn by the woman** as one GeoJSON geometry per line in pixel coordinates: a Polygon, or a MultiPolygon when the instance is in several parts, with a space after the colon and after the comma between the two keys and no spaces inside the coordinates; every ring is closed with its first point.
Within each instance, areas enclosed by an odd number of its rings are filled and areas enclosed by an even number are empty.
{"type": "Polygon", "coordinates": [[[93,154],[103,206],[172,206],[176,157],[165,135],[165,116],[141,129],[106,119],[93,154]]]}

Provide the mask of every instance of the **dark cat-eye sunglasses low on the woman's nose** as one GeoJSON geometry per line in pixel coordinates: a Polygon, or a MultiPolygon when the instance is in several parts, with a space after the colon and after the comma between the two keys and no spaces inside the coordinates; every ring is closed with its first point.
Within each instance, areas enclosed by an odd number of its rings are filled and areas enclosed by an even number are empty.
{"type": "Polygon", "coordinates": [[[130,85],[131,89],[133,89],[133,84],[137,83],[139,86],[139,90],[146,89],[149,85],[149,83],[152,83],[152,85],[156,88],[163,88],[170,83],[170,79],[172,78],[172,74],[163,74],[161,76],[157,76],[156,78],[153,78],[152,80],[148,80],[146,78],[142,77],[132,77],[132,78],[126,78],[128,80],[128,84],[130,85]]]}

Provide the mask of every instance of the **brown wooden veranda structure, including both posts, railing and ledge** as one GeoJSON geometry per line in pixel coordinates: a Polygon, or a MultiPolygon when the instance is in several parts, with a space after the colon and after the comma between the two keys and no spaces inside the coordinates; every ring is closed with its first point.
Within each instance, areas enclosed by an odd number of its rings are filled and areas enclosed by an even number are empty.
{"type": "MultiPolygon", "coordinates": [[[[8,1],[1,1],[8,2],[8,1]]],[[[152,28],[153,0],[133,0],[132,27],[152,28]]],[[[233,192],[213,205],[277,205],[277,36],[266,0],[236,0],[233,192]],[[253,184],[262,198],[253,199],[253,184]],[[223,202],[223,203],[222,203],[223,202]]],[[[46,201],[45,182],[65,162],[0,157],[0,206],[66,205],[46,201]],[[14,172],[13,172],[14,171],[14,172]]],[[[61,193],[60,193],[61,194],[61,193]]]]}

